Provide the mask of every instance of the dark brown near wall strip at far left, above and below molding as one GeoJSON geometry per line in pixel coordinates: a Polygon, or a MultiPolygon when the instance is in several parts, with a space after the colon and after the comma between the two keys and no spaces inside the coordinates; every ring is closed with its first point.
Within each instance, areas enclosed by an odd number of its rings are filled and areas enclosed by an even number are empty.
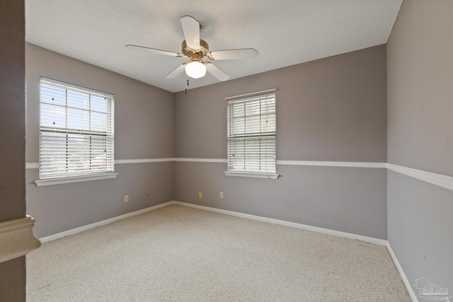
{"type": "MultiPolygon", "coordinates": [[[[0,1],[0,222],[25,217],[24,1],[0,1]]],[[[25,257],[0,263],[0,301],[25,301],[25,257]]]]}

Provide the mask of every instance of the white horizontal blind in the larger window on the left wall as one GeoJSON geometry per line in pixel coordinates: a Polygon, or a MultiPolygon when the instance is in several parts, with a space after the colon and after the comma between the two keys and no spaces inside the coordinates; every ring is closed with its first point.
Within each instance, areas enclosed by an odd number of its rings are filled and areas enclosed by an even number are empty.
{"type": "Polygon", "coordinates": [[[40,179],[113,173],[113,95],[40,81],[40,179]]]}

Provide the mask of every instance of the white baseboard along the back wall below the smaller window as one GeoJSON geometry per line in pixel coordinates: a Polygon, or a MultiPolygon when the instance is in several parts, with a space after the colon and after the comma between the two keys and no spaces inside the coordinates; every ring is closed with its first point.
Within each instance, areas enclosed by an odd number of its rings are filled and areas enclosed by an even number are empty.
{"type": "Polygon", "coordinates": [[[262,217],[262,216],[250,215],[250,214],[243,214],[243,213],[239,213],[236,211],[227,211],[227,210],[216,209],[216,208],[211,208],[211,207],[198,206],[196,204],[188,204],[186,202],[173,202],[173,204],[179,204],[180,206],[191,207],[191,208],[195,208],[195,209],[202,209],[205,211],[212,211],[215,213],[226,214],[226,215],[231,215],[231,216],[236,216],[236,217],[241,217],[241,218],[246,218],[246,219],[252,219],[252,220],[256,220],[256,221],[264,221],[264,222],[273,223],[273,224],[280,224],[281,226],[289,226],[291,228],[300,228],[302,230],[314,231],[317,233],[329,234],[329,235],[333,235],[333,236],[350,238],[350,239],[355,239],[355,240],[362,240],[362,241],[365,241],[368,243],[374,243],[377,245],[384,245],[384,246],[387,245],[387,240],[384,240],[384,239],[361,236],[361,235],[345,233],[345,232],[341,232],[341,231],[334,231],[334,230],[330,230],[328,228],[319,228],[317,226],[308,226],[306,224],[301,224],[301,223],[289,222],[289,221],[284,221],[284,220],[279,220],[279,219],[272,219],[272,218],[267,218],[267,217],[262,217]]]}

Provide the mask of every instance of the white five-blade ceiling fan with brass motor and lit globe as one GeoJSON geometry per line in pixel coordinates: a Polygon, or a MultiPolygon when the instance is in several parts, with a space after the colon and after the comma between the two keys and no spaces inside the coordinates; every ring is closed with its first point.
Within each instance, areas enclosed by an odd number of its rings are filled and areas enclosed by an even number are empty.
{"type": "Polygon", "coordinates": [[[222,60],[222,59],[253,59],[258,55],[258,52],[253,48],[243,48],[240,50],[216,50],[210,51],[209,45],[205,40],[200,39],[200,31],[202,26],[195,18],[191,16],[181,17],[181,25],[183,25],[183,32],[185,40],[183,41],[181,52],[169,52],[167,50],[157,50],[156,48],[149,48],[139,45],[126,45],[129,50],[138,50],[142,52],[151,52],[153,54],[164,54],[173,57],[188,57],[190,61],[180,64],[170,74],[166,76],[167,79],[176,78],[184,70],[185,73],[193,79],[199,79],[205,76],[206,71],[215,76],[219,81],[226,81],[229,75],[222,69],[212,64],[209,60],[222,60]]]}

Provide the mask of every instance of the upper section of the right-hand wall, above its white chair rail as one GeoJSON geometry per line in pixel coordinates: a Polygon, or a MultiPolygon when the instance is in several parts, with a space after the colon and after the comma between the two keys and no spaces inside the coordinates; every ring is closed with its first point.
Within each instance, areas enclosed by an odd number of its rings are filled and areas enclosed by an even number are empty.
{"type": "Polygon", "coordinates": [[[387,46],[389,163],[453,176],[453,1],[404,1],[387,46]]]}

